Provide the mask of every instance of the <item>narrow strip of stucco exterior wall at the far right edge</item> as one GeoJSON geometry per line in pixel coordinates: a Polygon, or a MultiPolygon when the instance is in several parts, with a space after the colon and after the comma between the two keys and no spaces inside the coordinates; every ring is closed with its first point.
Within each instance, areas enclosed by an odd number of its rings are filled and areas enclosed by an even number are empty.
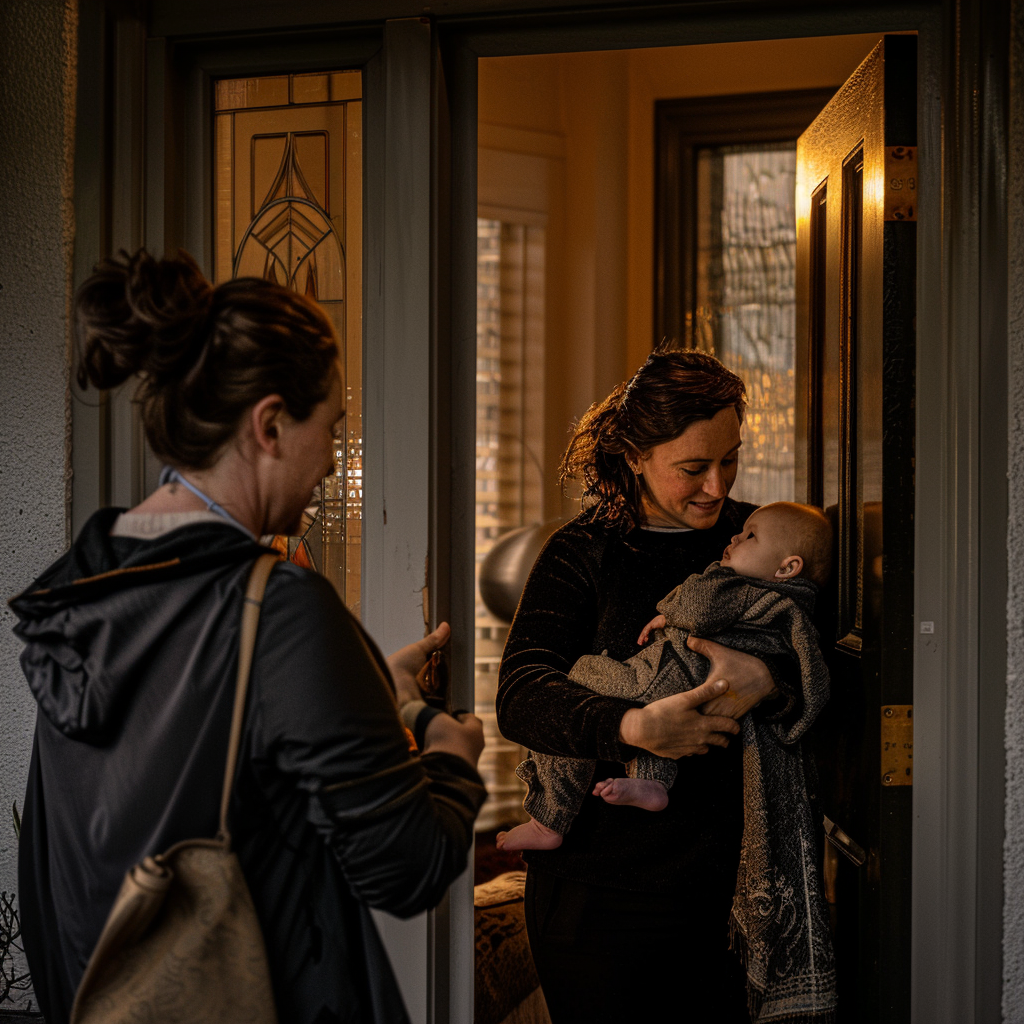
{"type": "Polygon", "coordinates": [[[1002,1019],[1024,1020],[1024,3],[1013,4],[1009,204],[1007,810],[1002,1019]]]}

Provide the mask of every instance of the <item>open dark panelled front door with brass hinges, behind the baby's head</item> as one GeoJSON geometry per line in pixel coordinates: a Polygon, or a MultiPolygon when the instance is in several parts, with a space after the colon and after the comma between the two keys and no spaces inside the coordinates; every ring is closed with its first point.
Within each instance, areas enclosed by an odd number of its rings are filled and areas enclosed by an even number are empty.
{"type": "MultiPolygon", "coordinates": [[[[910,1019],[916,37],[887,36],[797,151],[797,492],[836,527],[815,727],[842,1021],[910,1019]],[[802,420],[802,422],[801,422],[802,420]],[[842,849],[841,849],[842,848],[842,849]],[[862,848],[862,849],[858,849],[862,848]]],[[[927,624],[925,624],[927,626],[927,624]]]]}

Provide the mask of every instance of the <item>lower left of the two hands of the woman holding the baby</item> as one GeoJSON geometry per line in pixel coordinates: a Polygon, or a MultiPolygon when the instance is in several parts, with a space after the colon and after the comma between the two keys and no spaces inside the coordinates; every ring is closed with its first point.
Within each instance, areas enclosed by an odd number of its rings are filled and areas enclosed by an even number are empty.
{"type": "Polygon", "coordinates": [[[724,679],[709,679],[692,690],[631,708],[620,723],[618,738],[673,760],[707,754],[712,746],[728,746],[729,736],[739,732],[738,723],[700,710],[701,705],[723,698],[727,689],[724,679]]]}

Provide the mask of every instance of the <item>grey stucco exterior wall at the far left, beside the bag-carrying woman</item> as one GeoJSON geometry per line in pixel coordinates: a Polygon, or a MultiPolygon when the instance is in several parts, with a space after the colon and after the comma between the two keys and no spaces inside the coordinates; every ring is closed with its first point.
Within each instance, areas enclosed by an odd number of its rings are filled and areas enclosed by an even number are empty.
{"type": "MultiPolygon", "coordinates": [[[[0,889],[35,703],[7,598],[68,543],[75,0],[0,3],[0,889]]],[[[24,1000],[23,1000],[24,1002],[24,1000]]]]}

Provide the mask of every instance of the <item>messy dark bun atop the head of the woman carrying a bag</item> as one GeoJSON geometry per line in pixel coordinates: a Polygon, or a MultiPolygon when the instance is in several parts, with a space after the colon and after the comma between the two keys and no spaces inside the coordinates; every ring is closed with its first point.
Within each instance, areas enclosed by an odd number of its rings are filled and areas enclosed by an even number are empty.
{"type": "Polygon", "coordinates": [[[202,351],[212,297],[185,253],[158,260],[140,249],[104,259],[75,301],[79,383],[112,388],[134,374],[180,378],[202,351]]]}

